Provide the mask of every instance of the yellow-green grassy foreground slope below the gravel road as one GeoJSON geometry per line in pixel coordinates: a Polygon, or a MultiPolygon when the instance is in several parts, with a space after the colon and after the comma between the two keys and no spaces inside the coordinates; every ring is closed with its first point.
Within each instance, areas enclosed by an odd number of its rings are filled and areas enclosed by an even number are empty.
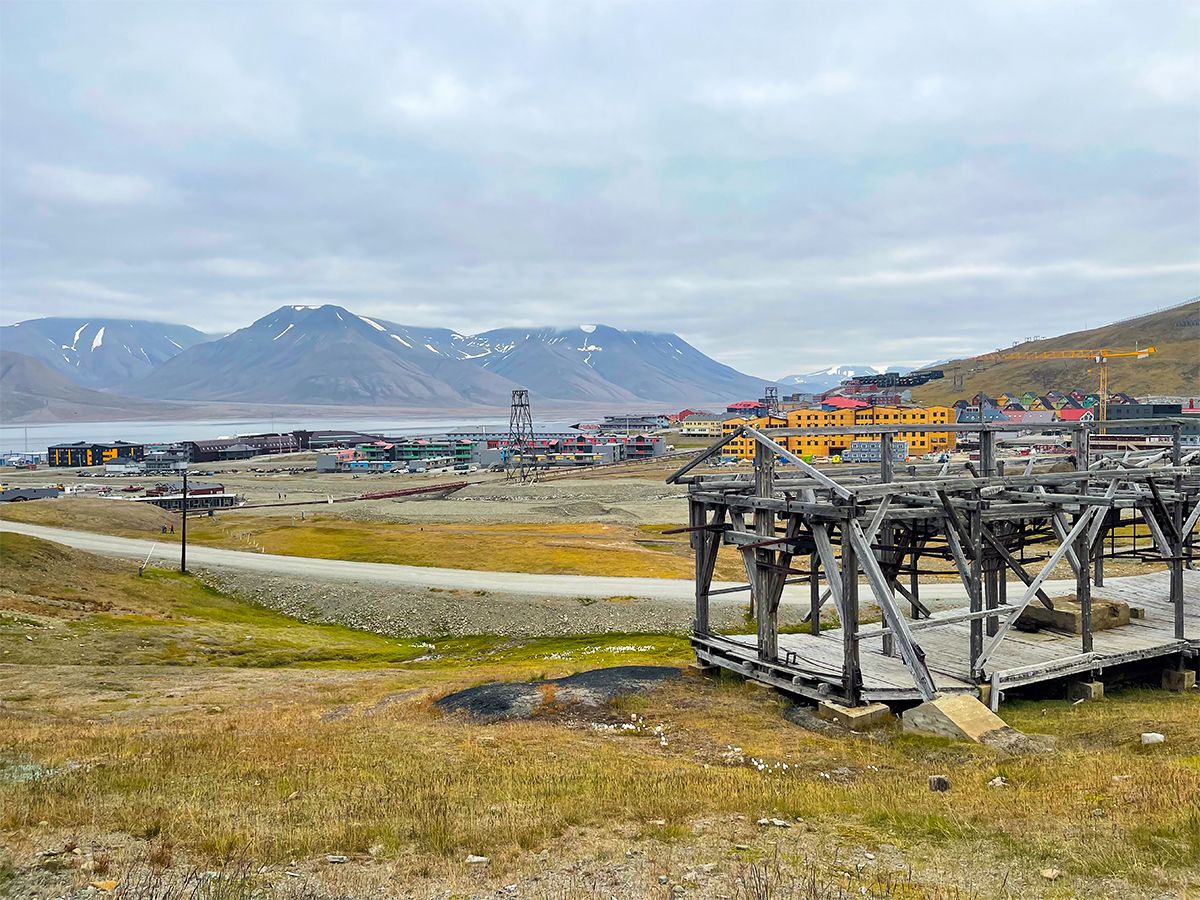
{"type": "MultiPolygon", "coordinates": [[[[19,535],[0,534],[0,871],[13,880],[70,841],[126,883],[240,860],[361,896],[383,883],[496,889],[553,869],[544,851],[576,868],[635,854],[644,871],[622,876],[635,878],[628,896],[665,895],[659,874],[686,882],[700,865],[728,896],[838,895],[794,887],[818,882],[876,896],[1200,887],[1198,692],[1008,703],[1010,724],[1056,742],[1021,757],[895,730],[826,733],[790,722],[770,692],[697,677],[612,708],[479,726],[432,700],[614,664],[683,666],[686,642],[392,640],[19,535]],[[1150,730],[1168,742],[1142,748],[1150,730]],[[936,773],[949,793],[928,790],[936,773]],[[997,775],[1009,785],[989,787],[997,775]],[[764,829],[763,816],[793,827],[764,829]],[[329,853],[352,862],[331,866],[329,853]],[[468,853],[491,858],[486,874],[468,853]]],[[[62,878],[90,877],[65,865],[62,878]]],[[[530,895],[580,893],[538,883],[530,895]]]]}

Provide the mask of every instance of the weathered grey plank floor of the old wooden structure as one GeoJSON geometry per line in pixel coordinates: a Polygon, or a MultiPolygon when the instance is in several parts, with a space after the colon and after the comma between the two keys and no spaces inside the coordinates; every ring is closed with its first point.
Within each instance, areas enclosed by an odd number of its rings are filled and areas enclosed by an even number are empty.
{"type": "MultiPolygon", "coordinates": [[[[1001,643],[989,665],[992,684],[1003,690],[1037,682],[1052,680],[1078,672],[1091,672],[1139,659],[1168,656],[1187,647],[1200,648],[1200,572],[1183,574],[1184,640],[1175,637],[1175,610],[1168,601],[1168,574],[1154,572],[1093,588],[1093,596],[1122,600],[1145,610],[1145,618],[1128,625],[1096,631],[1093,650],[1082,652],[1082,638],[1061,631],[1024,632],[1013,630],[1001,643]]],[[[1009,586],[1012,596],[1022,586],[1009,586]]],[[[1019,594],[1018,594],[1019,595],[1019,594]]],[[[1003,607],[1001,607],[1003,611],[1003,607]]],[[[948,610],[953,614],[966,610],[948,610]]],[[[935,619],[937,616],[934,617],[935,619]]],[[[978,692],[970,671],[970,625],[948,624],[914,632],[925,652],[925,661],[940,691],[978,692]]],[[[755,635],[730,635],[713,638],[704,654],[703,638],[697,640],[702,658],[716,665],[742,671],[749,678],[775,686],[802,684],[802,676],[812,683],[840,684],[842,636],[840,629],[828,629],[818,636],[780,635],[779,665],[764,665],[757,659],[755,635]],[[727,658],[722,660],[721,658],[727,658]]],[[[919,694],[912,676],[898,658],[886,656],[882,640],[863,641],[859,656],[863,673],[863,698],[916,700],[919,694]]],[[[800,694],[809,690],[797,690],[800,694]]]]}

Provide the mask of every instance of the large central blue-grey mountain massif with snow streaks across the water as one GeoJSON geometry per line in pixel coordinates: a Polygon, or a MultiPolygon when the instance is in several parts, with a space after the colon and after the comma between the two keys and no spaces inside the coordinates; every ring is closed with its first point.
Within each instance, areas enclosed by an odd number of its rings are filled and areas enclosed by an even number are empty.
{"type": "Polygon", "coordinates": [[[284,306],[125,389],[187,400],[494,406],[514,388],[544,400],[673,403],[757,397],[766,384],[671,334],[582,325],[462,335],[338,306],[284,306]]]}

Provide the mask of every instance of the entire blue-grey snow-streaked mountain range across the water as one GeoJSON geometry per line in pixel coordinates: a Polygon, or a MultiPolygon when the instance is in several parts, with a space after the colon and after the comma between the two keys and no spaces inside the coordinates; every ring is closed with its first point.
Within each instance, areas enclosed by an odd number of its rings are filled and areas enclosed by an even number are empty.
{"type": "MultiPolygon", "coordinates": [[[[284,306],[216,340],[113,319],[35,319],[0,330],[0,340],[68,383],[104,388],[113,402],[494,407],[524,388],[535,402],[688,404],[760,397],[770,384],[673,334],[580,325],[463,335],[331,305],[284,306]]],[[[23,396],[36,383],[23,379],[23,396]]]]}

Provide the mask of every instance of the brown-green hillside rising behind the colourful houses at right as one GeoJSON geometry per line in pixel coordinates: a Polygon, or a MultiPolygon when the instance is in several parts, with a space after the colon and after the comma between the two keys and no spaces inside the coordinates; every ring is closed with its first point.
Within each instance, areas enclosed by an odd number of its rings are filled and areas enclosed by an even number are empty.
{"type": "MultiPolygon", "coordinates": [[[[1074,331],[1043,341],[1028,341],[1010,349],[1022,352],[1068,349],[1134,349],[1154,347],[1146,359],[1116,359],[1106,364],[1109,389],[1135,397],[1146,395],[1200,395],[1200,299],[1169,310],[1139,316],[1126,322],[1074,331]]],[[[953,403],[978,391],[995,396],[1003,391],[1044,392],[1051,388],[1094,391],[1098,386],[1096,362],[1091,360],[1002,360],[978,358],[953,360],[940,368],[946,378],[913,389],[919,403],[953,403]],[[962,390],[954,390],[952,373],[965,373],[962,390]]]]}

